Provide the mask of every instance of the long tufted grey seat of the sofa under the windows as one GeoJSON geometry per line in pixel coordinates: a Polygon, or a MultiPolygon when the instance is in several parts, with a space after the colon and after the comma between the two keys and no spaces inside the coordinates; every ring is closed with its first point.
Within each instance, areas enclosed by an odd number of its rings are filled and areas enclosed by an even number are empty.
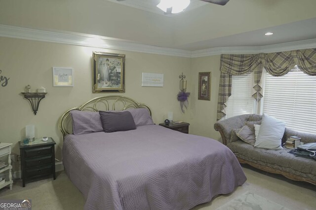
{"type": "Polygon", "coordinates": [[[304,157],[296,157],[289,150],[267,150],[255,148],[241,141],[227,145],[238,158],[288,172],[303,178],[316,180],[316,161],[304,157]]]}

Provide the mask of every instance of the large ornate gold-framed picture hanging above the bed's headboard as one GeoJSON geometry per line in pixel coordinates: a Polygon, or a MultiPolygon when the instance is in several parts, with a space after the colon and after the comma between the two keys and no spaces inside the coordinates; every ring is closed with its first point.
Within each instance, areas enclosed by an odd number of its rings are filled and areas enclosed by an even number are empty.
{"type": "Polygon", "coordinates": [[[92,92],[125,92],[125,55],[92,52],[92,92]]]}

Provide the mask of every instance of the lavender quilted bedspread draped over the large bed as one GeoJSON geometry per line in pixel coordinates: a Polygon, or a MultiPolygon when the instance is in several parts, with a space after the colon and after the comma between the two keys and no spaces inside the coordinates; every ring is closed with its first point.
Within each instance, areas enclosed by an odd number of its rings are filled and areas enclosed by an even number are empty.
{"type": "Polygon", "coordinates": [[[226,146],[159,125],[68,135],[63,164],[86,210],[189,210],[246,180],[226,146]]]}

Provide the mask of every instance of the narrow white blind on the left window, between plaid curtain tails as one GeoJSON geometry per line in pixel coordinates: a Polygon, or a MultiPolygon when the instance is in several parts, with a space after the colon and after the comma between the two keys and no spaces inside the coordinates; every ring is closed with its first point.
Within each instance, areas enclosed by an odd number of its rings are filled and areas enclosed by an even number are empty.
{"type": "Polygon", "coordinates": [[[232,76],[232,95],[226,102],[226,118],[253,112],[253,73],[232,76]]]}

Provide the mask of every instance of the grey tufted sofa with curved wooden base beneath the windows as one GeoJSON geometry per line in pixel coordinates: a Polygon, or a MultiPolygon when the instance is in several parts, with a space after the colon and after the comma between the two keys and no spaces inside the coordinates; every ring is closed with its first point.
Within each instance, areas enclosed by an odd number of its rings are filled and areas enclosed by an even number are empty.
{"type": "MultiPolygon", "coordinates": [[[[256,148],[236,136],[236,129],[245,125],[246,121],[260,121],[261,115],[249,114],[218,121],[214,124],[216,131],[222,136],[223,144],[230,148],[240,163],[249,164],[255,168],[281,174],[291,180],[307,181],[316,185],[316,161],[305,157],[297,157],[288,153],[289,149],[268,150],[256,148]],[[235,132],[234,132],[235,130],[235,132]]],[[[316,142],[316,135],[298,132],[285,128],[282,143],[289,136],[301,137],[301,142],[316,142]]]]}

